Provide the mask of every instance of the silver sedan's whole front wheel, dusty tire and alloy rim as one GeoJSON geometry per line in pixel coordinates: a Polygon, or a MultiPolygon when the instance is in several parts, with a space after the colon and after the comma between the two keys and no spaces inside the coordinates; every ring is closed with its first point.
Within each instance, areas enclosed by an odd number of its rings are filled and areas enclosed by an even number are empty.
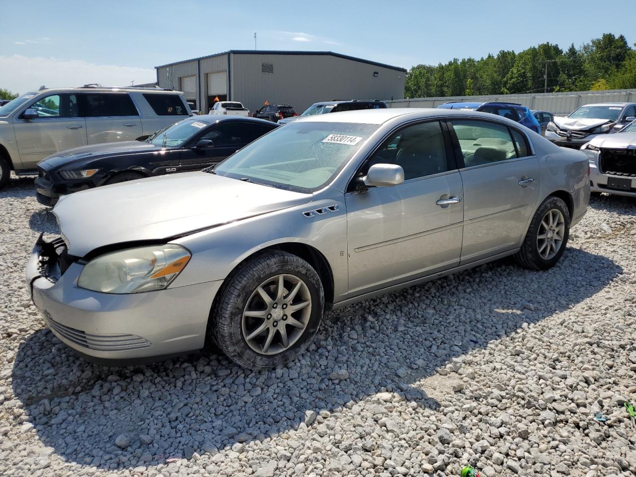
{"type": "Polygon", "coordinates": [[[314,268],[296,255],[268,251],[225,280],[208,337],[244,368],[273,368],[307,349],[323,311],[324,291],[314,268]]]}

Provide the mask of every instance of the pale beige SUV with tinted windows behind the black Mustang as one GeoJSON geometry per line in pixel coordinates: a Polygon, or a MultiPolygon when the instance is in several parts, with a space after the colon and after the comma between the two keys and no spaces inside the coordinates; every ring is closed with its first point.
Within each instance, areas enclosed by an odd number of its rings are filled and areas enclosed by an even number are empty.
{"type": "Polygon", "coordinates": [[[183,93],[159,88],[40,88],[0,107],[0,188],[10,171],[37,174],[65,149],[134,141],[191,116],[183,93]]]}

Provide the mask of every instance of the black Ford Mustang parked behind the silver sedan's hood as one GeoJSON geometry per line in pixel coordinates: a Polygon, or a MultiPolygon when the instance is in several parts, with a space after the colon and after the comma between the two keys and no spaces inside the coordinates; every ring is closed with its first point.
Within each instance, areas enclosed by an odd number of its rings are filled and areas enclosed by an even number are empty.
{"type": "Polygon", "coordinates": [[[60,195],[80,190],[204,169],[277,127],[256,118],[205,114],[167,126],[145,141],[67,149],[38,163],[38,202],[52,206],[60,195]]]}

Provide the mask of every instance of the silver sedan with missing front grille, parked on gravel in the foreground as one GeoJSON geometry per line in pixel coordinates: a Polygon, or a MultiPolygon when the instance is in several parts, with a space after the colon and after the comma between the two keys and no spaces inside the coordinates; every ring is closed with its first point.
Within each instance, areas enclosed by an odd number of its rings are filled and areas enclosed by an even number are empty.
{"type": "Polygon", "coordinates": [[[271,367],[307,348],[325,310],[505,256],[554,266],[589,182],[584,153],[492,114],[324,114],[214,169],[62,197],[62,237],[38,240],[27,280],[90,359],[214,342],[271,367]]]}

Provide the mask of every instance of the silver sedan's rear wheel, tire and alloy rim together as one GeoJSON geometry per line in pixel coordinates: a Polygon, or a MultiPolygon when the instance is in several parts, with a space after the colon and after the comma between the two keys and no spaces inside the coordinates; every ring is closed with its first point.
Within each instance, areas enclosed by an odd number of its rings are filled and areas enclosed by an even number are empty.
{"type": "Polygon", "coordinates": [[[560,198],[550,196],[535,212],[515,260],[529,270],[548,270],[561,258],[569,236],[567,205],[560,198]]]}

